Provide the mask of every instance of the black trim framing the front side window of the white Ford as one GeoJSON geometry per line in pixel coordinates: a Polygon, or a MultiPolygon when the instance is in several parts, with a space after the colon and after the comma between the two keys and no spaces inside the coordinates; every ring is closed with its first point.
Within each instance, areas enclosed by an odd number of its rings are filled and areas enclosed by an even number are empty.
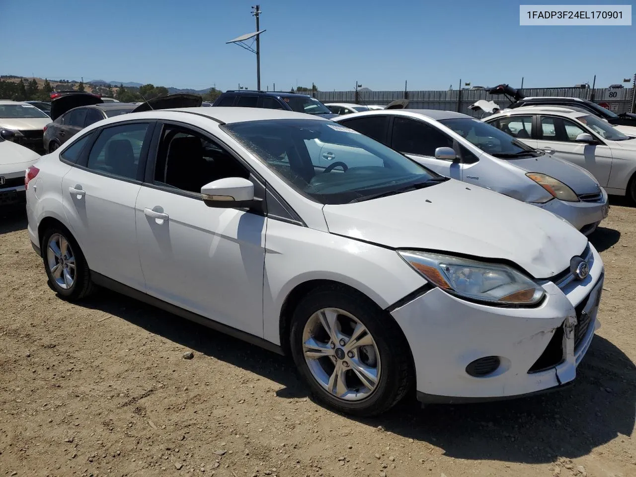
{"type": "Polygon", "coordinates": [[[301,219],[300,216],[296,213],[296,211],[294,211],[293,207],[291,207],[291,205],[289,205],[289,203],[287,203],[287,201],[284,200],[284,198],[282,198],[279,193],[277,193],[277,191],[271,186],[271,184],[269,184],[265,180],[263,176],[261,176],[261,174],[259,174],[249,163],[245,162],[245,160],[243,160],[243,158],[232,147],[230,147],[227,144],[227,142],[223,141],[223,139],[217,137],[216,135],[213,135],[211,132],[205,129],[202,129],[190,123],[185,123],[179,120],[157,120],[156,121],[155,131],[153,132],[153,138],[150,141],[151,144],[148,151],[148,158],[152,158],[152,159],[146,162],[144,177],[143,177],[143,180],[141,181],[141,185],[143,187],[149,187],[151,189],[161,190],[161,191],[169,192],[172,194],[181,195],[183,197],[189,197],[189,198],[203,201],[203,198],[201,197],[200,193],[184,191],[181,189],[176,189],[170,186],[165,186],[162,184],[155,183],[156,157],[157,157],[157,153],[159,149],[159,141],[161,140],[161,137],[163,134],[163,128],[165,126],[174,126],[177,128],[183,128],[186,131],[191,130],[192,132],[195,132],[197,134],[200,134],[206,137],[212,142],[216,142],[217,144],[219,144],[219,146],[224,148],[226,152],[228,152],[235,160],[237,160],[240,163],[240,165],[242,165],[243,167],[245,167],[245,169],[247,169],[247,172],[249,172],[249,176],[252,179],[252,183],[254,183],[254,197],[258,197],[263,200],[263,214],[259,214],[259,212],[252,211],[250,209],[247,209],[246,207],[232,207],[232,209],[235,209],[237,211],[246,211],[256,215],[263,215],[265,217],[285,221],[288,223],[292,223],[294,225],[300,225],[303,227],[307,226],[305,222],[303,221],[303,219],[301,219]],[[289,217],[280,217],[280,216],[275,216],[273,214],[268,213],[267,200],[266,200],[268,192],[279,202],[280,205],[282,205],[285,211],[289,214],[289,217]]]}

